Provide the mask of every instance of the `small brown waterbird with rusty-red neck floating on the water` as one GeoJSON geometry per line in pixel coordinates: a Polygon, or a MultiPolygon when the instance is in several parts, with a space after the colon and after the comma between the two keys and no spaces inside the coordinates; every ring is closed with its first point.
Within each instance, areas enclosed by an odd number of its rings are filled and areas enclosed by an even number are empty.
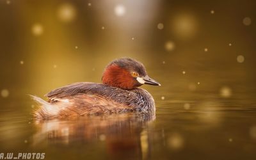
{"type": "Polygon", "coordinates": [[[32,96],[42,106],[36,118],[73,118],[103,113],[154,113],[152,95],[142,84],[160,86],[147,76],[142,63],[131,58],[114,60],[105,68],[102,83],[74,83],[47,93],[49,101],[32,96]]]}

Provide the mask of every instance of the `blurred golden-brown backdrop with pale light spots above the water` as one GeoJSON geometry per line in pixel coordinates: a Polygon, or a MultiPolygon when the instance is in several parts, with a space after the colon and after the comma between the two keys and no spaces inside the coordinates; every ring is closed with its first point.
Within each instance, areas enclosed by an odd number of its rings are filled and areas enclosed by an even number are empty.
{"type": "Polygon", "coordinates": [[[143,62],[167,86],[161,90],[252,90],[255,6],[253,0],[1,0],[1,95],[41,96],[68,83],[100,82],[109,61],[124,56],[143,62]]]}

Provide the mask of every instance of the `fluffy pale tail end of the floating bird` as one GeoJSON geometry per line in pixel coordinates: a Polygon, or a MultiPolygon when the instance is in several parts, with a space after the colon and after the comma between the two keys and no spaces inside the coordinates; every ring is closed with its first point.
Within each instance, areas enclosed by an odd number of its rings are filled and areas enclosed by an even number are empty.
{"type": "Polygon", "coordinates": [[[30,97],[40,105],[39,108],[37,108],[33,113],[35,118],[52,118],[58,115],[60,111],[58,106],[54,106],[50,102],[46,102],[45,100],[36,97],[35,95],[30,95],[30,97]]]}

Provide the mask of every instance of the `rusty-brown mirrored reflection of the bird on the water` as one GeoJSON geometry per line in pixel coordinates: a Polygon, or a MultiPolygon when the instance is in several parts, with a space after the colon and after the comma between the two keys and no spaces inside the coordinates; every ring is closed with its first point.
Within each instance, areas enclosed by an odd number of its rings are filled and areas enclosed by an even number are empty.
{"type": "Polygon", "coordinates": [[[124,157],[127,154],[129,158],[147,159],[150,148],[148,123],[155,118],[155,114],[126,113],[84,116],[77,120],[36,121],[37,132],[33,135],[33,145],[40,144],[42,147],[49,143],[72,145],[102,141],[110,157],[124,157]]]}

